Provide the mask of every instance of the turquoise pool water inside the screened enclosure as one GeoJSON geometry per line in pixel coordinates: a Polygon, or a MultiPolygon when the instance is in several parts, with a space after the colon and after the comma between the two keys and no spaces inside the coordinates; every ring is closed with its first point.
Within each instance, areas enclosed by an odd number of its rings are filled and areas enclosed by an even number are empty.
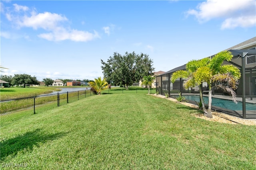
{"type": "MultiPolygon", "coordinates": [[[[172,96],[174,98],[178,96],[172,96]]],[[[200,102],[199,96],[184,96],[187,100],[200,102]]],[[[208,97],[203,96],[204,103],[208,104],[208,97]]],[[[218,99],[218,98],[212,98],[212,106],[222,107],[230,110],[242,110],[242,102],[238,102],[238,104],[235,104],[232,100],[224,100],[224,99],[218,99]]],[[[256,110],[255,104],[246,103],[246,110],[256,110]]]]}

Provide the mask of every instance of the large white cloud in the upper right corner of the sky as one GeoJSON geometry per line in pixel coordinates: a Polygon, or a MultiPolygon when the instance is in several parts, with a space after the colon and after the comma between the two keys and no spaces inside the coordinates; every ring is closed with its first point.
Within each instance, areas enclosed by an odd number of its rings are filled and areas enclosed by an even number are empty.
{"type": "Polygon", "coordinates": [[[255,26],[255,12],[255,0],[207,0],[198,4],[196,10],[188,10],[186,14],[195,16],[200,23],[223,18],[221,28],[226,29],[255,26]]]}

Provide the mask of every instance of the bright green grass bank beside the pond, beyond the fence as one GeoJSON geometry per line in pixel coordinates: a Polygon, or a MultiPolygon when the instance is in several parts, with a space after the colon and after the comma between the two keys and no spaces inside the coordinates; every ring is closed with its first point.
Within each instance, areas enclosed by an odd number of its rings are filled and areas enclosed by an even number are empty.
{"type": "Polygon", "coordinates": [[[26,87],[26,88],[24,87],[0,88],[0,100],[33,97],[33,96],[38,96],[40,94],[48,94],[53,91],[60,91],[60,89],[47,87],[47,86],[26,87]]]}

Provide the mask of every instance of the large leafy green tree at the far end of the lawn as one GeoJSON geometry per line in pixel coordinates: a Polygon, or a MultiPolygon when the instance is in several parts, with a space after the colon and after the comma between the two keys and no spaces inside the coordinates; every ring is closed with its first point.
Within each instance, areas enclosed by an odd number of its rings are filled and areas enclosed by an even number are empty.
{"type": "Polygon", "coordinates": [[[148,55],[126,52],[125,55],[114,53],[107,62],[101,60],[104,78],[110,84],[124,85],[126,89],[134,82],[139,82],[143,76],[152,75],[153,61],[148,55]]]}

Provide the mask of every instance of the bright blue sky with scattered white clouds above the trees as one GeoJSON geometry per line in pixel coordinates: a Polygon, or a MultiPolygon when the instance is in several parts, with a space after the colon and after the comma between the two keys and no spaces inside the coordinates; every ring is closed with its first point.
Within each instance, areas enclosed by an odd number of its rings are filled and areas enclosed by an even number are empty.
{"type": "Polygon", "coordinates": [[[168,71],[256,36],[255,0],[0,3],[1,74],[38,80],[93,80],[126,51],[168,71]]]}

